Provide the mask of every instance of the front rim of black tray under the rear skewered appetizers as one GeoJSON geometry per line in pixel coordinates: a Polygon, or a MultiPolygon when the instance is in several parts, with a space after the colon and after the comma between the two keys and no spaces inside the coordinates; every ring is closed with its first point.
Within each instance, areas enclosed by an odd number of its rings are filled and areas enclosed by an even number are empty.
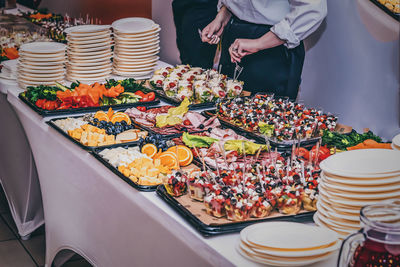
{"type": "MultiPolygon", "coordinates": [[[[216,110],[204,110],[201,112],[201,115],[210,118],[216,115],[216,110]]],[[[233,129],[234,131],[236,131],[239,134],[245,135],[247,138],[251,138],[251,139],[255,139],[256,141],[265,143],[265,138],[261,135],[261,134],[257,134],[248,130],[245,130],[243,128],[240,128],[239,126],[232,124],[230,122],[227,122],[221,118],[218,118],[220,123],[228,128],[233,129]]],[[[300,146],[302,147],[306,147],[306,148],[311,148],[313,147],[317,142],[318,142],[319,138],[310,138],[310,139],[305,139],[305,140],[300,140],[300,146]]],[[[277,141],[273,141],[273,140],[269,140],[270,145],[272,148],[277,148],[278,151],[280,152],[284,152],[287,150],[292,149],[293,143],[287,142],[277,142],[277,141]]]]}

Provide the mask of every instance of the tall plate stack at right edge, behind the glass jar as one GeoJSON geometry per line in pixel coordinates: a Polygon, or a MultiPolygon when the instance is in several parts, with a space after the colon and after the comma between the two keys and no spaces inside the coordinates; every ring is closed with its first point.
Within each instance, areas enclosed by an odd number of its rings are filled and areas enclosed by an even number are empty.
{"type": "Polygon", "coordinates": [[[360,149],[333,155],[320,164],[314,221],[340,237],[360,229],[363,206],[400,199],[400,151],[360,149]]]}

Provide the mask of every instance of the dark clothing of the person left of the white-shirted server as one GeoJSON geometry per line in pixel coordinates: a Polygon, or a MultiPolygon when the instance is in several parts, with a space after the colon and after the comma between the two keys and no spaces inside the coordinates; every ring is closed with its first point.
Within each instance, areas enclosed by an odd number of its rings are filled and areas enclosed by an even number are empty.
{"type": "Polygon", "coordinates": [[[174,0],[172,11],[176,27],[176,43],[183,64],[212,68],[216,45],[201,41],[203,30],[217,15],[218,0],[174,0]]]}

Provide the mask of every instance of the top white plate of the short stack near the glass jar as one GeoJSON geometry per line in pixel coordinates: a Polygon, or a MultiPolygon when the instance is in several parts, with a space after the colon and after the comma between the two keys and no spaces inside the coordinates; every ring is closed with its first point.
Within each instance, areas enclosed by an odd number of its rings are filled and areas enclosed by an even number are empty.
{"type": "Polygon", "coordinates": [[[254,224],[243,229],[240,236],[261,247],[292,250],[308,250],[337,241],[332,231],[293,222],[254,224]]]}

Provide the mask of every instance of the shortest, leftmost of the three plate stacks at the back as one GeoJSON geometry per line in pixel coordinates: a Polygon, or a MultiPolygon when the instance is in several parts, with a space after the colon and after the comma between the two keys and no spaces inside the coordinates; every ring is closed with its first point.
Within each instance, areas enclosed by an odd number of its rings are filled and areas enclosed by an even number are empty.
{"type": "Polygon", "coordinates": [[[18,83],[22,88],[54,85],[64,80],[65,45],[55,42],[23,44],[19,50],[18,83]]]}

